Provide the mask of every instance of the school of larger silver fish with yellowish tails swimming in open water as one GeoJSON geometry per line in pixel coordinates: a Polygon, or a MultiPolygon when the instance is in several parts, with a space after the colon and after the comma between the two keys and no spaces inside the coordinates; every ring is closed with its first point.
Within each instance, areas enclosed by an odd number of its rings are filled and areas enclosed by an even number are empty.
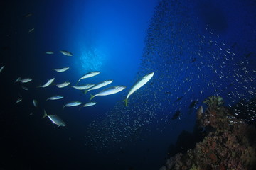
{"type": "MultiPolygon", "coordinates": [[[[73,56],[73,54],[71,52],[68,52],[66,50],[60,50],[60,52],[63,54],[63,55],[66,55],[66,56],[73,56]]],[[[47,51],[46,52],[47,55],[53,55],[54,52],[53,51],[47,51]]],[[[1,66],[0,67],[0,73],[3,71],[5,66],[1,66]]],[[[58,69],[53,69],[55,70],[55,72],[65,72],[67,71],[68,69],[70,69],[70,67],[63,67],[63,68],[58,68],[58,69]]],[[[92,90],[96,90],[96,89],[100,89],[102,87],[105,87],[109,84],[111,84],[114,80],[112,79],[108,79],[108,80],[105,80],[105,81],[101,81],[100,83],[98,84],[82,84],[82,85],[78,85],[78,83],[82,80],[82,79],[87,79],[87,78],[90,78],[90,77],[95,77],[97,76],[97,74],[100,74],[100,72],[98,71],[95,71],[95,72],[87,72],[85,73],[82,77],[80,77],[80,79],[78,79],[77,83],[75,84],[75,86],[71,86],[70,85],[70,82],[68,81],[64,81],[63,83],[61,84],[55,84],[55,86],[57,86],[58,88],[65,88],[67,86],[70,86],[74,89],[78,89],[80,91],[83,91],[84,94],[86,94],[88,91],[92,91],[92,90]]],[[[142,86],[144,86],[144,84],[146,84],[154,75],[154,72],[151,72],[149,74],[146,74],[144,77],[142,77],[141,79],[139,79],[139,81],[137,81],[136,84],[134,84],[134,86],[132,86],[132,89],[130,89],[129,93],[127,94],[127,98],[125,99],[125,106],[127,106],[127,103],[128,103],[128,98],[131,94],[133,94],[135,91],[137,91],[139,88],[141,88],[142,86]]],[[[27,84],[29,82],[31,82],[33,79],[29,78],[29,77],[26,77],[26,78],[21,78],[21,77],[18,77],[16,79],[16,81],[14,81],[14,83],[18,83],[20,82],[22,85],[21,85],[21,88],[23,90],[26,90],[28,91],[28,88],[26,86],[23,86],[23,84],[27,84]]],[[[45,84],[43,85],[39,85],[37,86],[38,88],[46,88],[48,86],[51,86],[53,85],[53,82],[55,81],[55,78],[53,79],[49,79],[48,81],[46,81],[45,84]]],[[[97,102],[95,101],[91,101],[93,98],[95,98],[96,96],[108,96],[108,95],[111,95],[111,94],[117,94],[119,91],[123,91],[124,89],[126,89],[127,86],[110,86],[106,89],[103,89],[102,91],[100,91],[99,93],[95,94],[95,95],[92,95],[90,94],[90,101],[87,102],[87,103],[82,103],[81,101],[70,101],[69,103],[65,103],[65,105],[63,105],[63,109],[65,107],[73,107],[73,106],[80,106],[80,108],[82,107],[89,107],[89,106],[94,106],[95,104],[97,104],[97,102]]],[[[55,100],[60,100],[64,98],[64,96],[61,96],[61,95],[55,95],[55,96],[51,96],[49,98],[46,98],[46,102],[47,101],[55,101],[55,100]]],[[[15,103],[20,103],[22,101],[22,97],[20,96],[15,103]]],[[[33,99],[33,106],[35,107],[38,107],[38,101],[36,99],[33,99]]],[[[79,108],[79,110],[80,110],[79,108]]],[[[55,125],[58,125],[58,126],[65,126],[66,123],[58,116],[58,115],[48,115],[46,113],[46,110],[43,111],[43,118],[46,118],[48,117],[49,120],[55,124],[55,125]]]]}

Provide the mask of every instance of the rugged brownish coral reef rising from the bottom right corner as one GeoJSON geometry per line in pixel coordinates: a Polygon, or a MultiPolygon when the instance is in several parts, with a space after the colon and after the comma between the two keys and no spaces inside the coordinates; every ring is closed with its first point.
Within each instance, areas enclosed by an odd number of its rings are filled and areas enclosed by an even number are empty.
{"type": "Polygon", "coordinates": [[[256,129],[235,118],[220,97],[206,100],[208,108],[198,110],[198,125],[215,128],[196,147],[167,160],[161,170],[210,170],[256,168],[256,129]]]}

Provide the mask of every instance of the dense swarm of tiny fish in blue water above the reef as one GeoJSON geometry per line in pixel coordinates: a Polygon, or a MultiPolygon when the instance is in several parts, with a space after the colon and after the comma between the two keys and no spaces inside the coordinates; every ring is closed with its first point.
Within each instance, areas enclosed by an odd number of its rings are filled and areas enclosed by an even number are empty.
{"type": "Polygon", "coordinates": [[[202,28],[187,2],[162,0],[156,7],[146,30],[138,77],[151,70],[157,77],[132,96],[129,108],[117,102],[93,120],[86,129],[86,145],[101,149],[135,143],[154,130],[170,135],[195,120],[193,113],[209,96],[223,97],[229,107],[241,101],[246,110],[235,108],[235,114],[249,113],[248,119],[256,120],[250,101],[256,95],[255,52],[241,51],[239,41],[227,42],[208,25],[202,28]]]}

